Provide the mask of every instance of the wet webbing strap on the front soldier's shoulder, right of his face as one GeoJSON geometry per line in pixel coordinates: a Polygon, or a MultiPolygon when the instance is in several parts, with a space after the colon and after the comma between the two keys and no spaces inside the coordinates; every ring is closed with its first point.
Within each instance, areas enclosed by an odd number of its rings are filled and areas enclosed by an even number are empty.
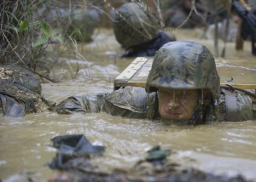
{"type": "Polygon", "coordinates": [[[226,119],[228,122],[237,122],[239,120],[238,107],[236,102],[236,92],[221,88],[225,94],[226,119]]]}

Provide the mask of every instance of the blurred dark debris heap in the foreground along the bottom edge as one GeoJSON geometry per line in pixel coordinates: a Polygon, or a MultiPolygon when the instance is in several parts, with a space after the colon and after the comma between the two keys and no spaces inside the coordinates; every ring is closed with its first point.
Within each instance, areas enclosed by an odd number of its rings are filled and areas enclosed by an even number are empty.
{"type": "Polygon", "coordinates": [[[167,156],[171,150],[155,145],[148,151],[148,156],[130,170],[115,169],[104,173],[90,162],[90,156],[102,154],[103,146],[91,145],[83,134],[58,136],[52,139],[60,151],[49,167],[58,169],[60,174],[51,177],[48,182],[249,182],[241,175],[228,177],[214,175],[195,168],[181,169],[177,162],[170,162],[167,156]]]}

